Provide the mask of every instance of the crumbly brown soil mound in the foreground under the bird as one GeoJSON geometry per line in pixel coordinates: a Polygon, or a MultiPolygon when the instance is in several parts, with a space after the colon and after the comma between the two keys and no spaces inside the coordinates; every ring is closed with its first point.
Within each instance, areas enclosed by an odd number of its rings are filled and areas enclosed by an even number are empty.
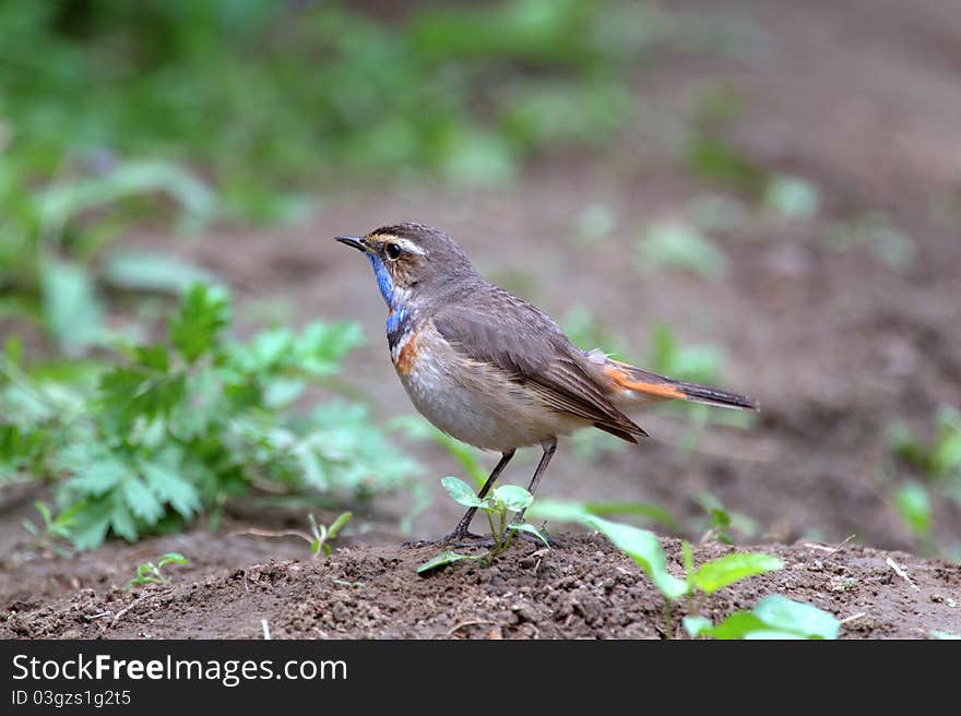
{"type": "MultiPolygon", "coordinates": [[[[262,549],[209,539],[223,554],[262,549]]],[[[159,552],[177,542],[154,544],[159,552]]],[[[249,542],[249,540],[248,540],[249,542]]],[[[193,546],[195,548],[195,545],[193,546]]],[[[679,540],[666,540],[679,568],[679,540]]],[[[733,551],[698,548],[696,560],[733,551]]],[[[768,594],[785,594],[844,622],[842,636],[917,639],[961,626],[961,578],[945,563],[859,546],[767,546],[783,571],[727,587],[708,600],[720,620],[768,594]],[[900,576],[893,559],[907,574],[900,576]],[[910,581],[909,581],[910,580],[910,581]],[[950,595],[954,595],[951,597],[950,595]]],[[[596,535],[562,535],[554,549],[518,545],[490,566],[458,564],[418,576],[436,547],[354,547],[317,560],[275,560],[203,578],[124,592],[114,565],[87,564],[94,586],[45,604],[10,605],[0,636],[31,639],[663,639],[664,602],[637,565],[596,535]],[[99,572],[99,573],[97,573],[99,572]],[[112,576],[111,576],[112,573],[112,576]]],[[[122,578],[133,569],[123,570],[122,578]]],[[[671,635],[679,635],[675,610],[671,635]]]]}

